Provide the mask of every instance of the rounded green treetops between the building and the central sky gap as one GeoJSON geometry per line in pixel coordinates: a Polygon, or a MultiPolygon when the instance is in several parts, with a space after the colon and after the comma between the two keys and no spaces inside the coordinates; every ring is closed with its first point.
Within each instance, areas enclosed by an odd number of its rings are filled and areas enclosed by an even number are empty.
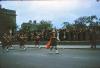
{"type": "Polygon", "coordinates": [[[21,25],[21,30],[29,32],[29,31],[41,31],[43,29],[52,29],[52,24],[51,21],[40,21],[40,23],[37,23],[36,20],[35,21],[31,21],[29,20],[29,22],[23,23],[21,25]]]}

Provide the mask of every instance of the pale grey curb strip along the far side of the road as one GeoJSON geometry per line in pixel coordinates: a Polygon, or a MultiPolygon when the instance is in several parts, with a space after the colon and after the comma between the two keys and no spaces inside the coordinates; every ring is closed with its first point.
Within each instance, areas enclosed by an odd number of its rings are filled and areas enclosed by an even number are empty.
{"type": "MultiPolygon", "coordinates": [[[[1,47],[2,45],[0,45],[1,47]]],[[[12,45],[17,47],[19,45],[12,45]]],[[[27,48],[36,48],[35,45],[25,45],[27,48]]],[[[44,45],[40,45],[40,48],[45,48],[44,45]]],[[[91,48],[91,45],[59,45],[57,48],[60,49],[100,49],[100,45],[97,45],[96,48],[91,48]]]]}

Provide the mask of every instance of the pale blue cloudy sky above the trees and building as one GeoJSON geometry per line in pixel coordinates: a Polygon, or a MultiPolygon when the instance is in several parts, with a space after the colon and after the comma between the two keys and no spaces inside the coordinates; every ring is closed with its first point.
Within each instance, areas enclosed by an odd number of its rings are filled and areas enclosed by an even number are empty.
{"type": "Polygon", "coordinates": [[[3,8],[16,10],[16,23],[29,20],[51,20],[54,27],[73,21],[81,16],[100,16],[100,3],[96,0],[52,0],[52,1],[1,1],[3,8]]]}

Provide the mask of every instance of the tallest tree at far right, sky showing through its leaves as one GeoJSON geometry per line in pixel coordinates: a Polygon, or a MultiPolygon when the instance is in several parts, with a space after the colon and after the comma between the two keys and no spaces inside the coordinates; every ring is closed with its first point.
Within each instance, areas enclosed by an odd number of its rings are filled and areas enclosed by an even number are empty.
{"type": "Polygon", "coordinates": [[[96,27],[99,25],[99,20],[96,15],[83,16],[75,20],[76,28],[96,27]],[[88,25],[87,25],[88,24],[88,25]]]}

